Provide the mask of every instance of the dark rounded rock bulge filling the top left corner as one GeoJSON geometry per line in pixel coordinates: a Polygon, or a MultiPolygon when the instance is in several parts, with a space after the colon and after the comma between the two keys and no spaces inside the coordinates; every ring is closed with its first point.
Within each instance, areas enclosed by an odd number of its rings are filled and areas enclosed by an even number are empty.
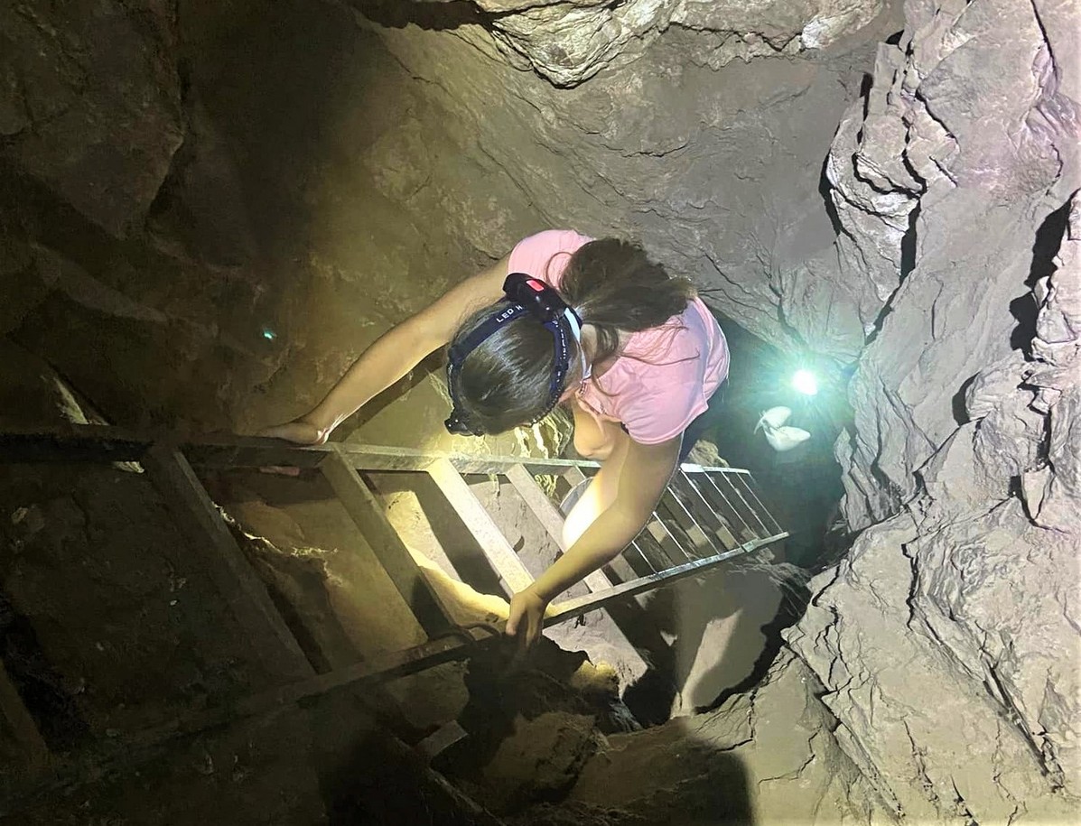
{"type": "Polygon", "coordinates": [[[0,9],[0,157],[117,237],[183,135],[172,15],[116,0],[0,9]]]}

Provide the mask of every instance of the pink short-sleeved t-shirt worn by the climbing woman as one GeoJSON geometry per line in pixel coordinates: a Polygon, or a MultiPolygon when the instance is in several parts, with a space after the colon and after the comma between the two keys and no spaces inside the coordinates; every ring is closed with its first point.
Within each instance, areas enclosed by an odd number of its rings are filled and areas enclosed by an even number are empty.
{"type": "MultiPolygon", "coordinates": [[[[572,230],[538,232],[515,247],[508,270],[558,289],[570,253],[591,240],[572,230]]],[[[662,327],[631,334],[615,363],[585,382],[578,399],[596,417],[623,423],[635,441],[657,444],[683,432],[728,374],[724,334],[695,298],[662,327]]]]}

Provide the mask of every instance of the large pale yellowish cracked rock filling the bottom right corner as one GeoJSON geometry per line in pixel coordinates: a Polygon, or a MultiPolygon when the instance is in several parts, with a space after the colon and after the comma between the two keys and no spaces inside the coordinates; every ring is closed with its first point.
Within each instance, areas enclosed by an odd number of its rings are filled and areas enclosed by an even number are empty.
{"type": "Polygon", "coordinates": [[[1077,640],[1056,572],[1076,539],[1031,525],[1016,499],[933,521],[865,532],[789,640],[825,682],[842,749],[898,814],[1067,817],[1077,640]]]}

